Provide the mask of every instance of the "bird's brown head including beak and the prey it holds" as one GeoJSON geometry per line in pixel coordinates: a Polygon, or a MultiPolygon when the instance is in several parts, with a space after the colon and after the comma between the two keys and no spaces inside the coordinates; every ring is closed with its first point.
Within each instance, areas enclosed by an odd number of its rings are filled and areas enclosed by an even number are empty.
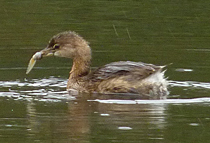
{"type": "Polygon", "coordinates": [[[81,59],[90,61],[91,49],[88,42],[75,32],[66,31],[53,36],[47,47],[36,52],[28,65],[26,74],[28,74],[37,60],[48,56],[58,56],[71,59],[81,59]]]}

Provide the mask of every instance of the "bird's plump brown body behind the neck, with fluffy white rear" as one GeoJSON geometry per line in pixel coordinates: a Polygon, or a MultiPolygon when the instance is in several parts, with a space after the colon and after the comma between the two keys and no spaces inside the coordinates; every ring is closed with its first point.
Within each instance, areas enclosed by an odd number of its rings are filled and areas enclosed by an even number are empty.
{"type": "Polygon", "coordinates": [[[167,81],[162,69],[142,62],[120,61],[107,64],[94,71],[90,87],[99,93],[134,93],[150,97],[165,97],[167,81]]]}

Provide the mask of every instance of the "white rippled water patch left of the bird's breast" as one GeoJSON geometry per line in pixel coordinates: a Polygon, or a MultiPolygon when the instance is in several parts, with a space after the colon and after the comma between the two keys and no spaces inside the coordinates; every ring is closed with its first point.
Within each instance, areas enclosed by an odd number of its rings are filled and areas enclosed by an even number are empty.
{"type": "Polygon", "coordinates": [[[74,100],[66,91],[67,80],[61,78],[0,81],[0,97],[17,100],[63,101],[74,100]]]}

